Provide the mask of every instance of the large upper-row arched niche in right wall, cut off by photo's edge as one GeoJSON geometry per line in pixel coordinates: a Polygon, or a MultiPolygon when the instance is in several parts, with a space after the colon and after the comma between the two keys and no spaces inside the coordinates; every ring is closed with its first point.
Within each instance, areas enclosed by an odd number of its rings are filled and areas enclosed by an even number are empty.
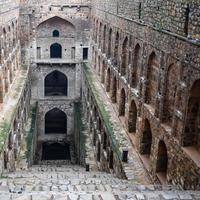
{"type": "Polygon", "coordinates": [[[200,152],[200,79],[195,81],[188,100],[183,146],[193,146],[200,152]]]}

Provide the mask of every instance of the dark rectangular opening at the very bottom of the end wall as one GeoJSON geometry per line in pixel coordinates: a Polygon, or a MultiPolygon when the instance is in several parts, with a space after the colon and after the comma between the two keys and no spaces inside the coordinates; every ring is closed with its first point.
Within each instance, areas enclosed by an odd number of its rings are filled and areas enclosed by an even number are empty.
{"type": "Polygon", "coordinates": [[[70,146],[66,143],[44,143],[42,160],[70,160],[70,146]]]}

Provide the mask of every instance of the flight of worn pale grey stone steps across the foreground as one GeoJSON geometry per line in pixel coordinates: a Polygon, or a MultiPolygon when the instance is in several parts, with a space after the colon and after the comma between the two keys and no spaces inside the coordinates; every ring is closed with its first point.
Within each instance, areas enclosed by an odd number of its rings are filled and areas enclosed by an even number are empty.
{"type": "Polygon", "coordinates": [[[138,185],[75,165],[36,165],[4,174],[0,200],[191,200],[200,192],[170,186],[138,185]]]}

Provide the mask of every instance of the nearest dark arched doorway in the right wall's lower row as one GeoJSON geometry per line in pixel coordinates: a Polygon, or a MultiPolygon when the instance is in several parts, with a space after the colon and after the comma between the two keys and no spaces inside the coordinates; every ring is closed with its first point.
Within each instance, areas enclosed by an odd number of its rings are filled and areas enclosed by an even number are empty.
{"type": "Polygon", "coordinates": [[[160,141],[158,144],[156,172],[159,173],[159,175],[165,179],[164,181],[166,181],[166,176],[167,176],[167,165],[168,165],[167,147],[164,141],[160,141]]]}

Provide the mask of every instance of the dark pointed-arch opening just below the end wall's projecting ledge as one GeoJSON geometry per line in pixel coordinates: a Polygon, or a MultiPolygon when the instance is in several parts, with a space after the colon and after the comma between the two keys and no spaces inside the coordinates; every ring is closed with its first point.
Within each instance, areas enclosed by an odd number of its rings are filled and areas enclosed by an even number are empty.
{"type": "Polygon", "coordinates": [[[45,77],[45,96],[67,96],[68,80],[65,74],[55,70],[45,77]]]}

